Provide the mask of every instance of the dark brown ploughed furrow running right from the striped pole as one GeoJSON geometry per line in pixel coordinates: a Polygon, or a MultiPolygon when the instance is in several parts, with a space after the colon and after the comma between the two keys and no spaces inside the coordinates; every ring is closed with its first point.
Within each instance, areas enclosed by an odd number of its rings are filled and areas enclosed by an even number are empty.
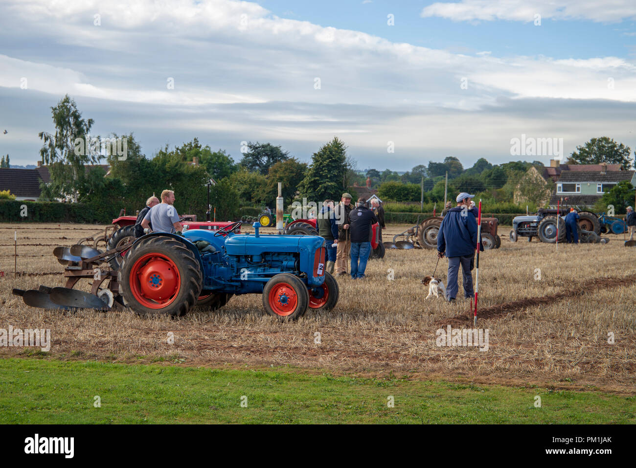
{"type": "MultiPolygon", "coordinates": [[[[519,299],[518,301],[504,302],[502,304],[495,304],[485,308],[477,308],[477,318],[496,318],[515,313],[516,311],[523,310],[525,308],[533,306],[542,306],[544,304],[551,304],[552,302],[562,301],[569,297],[576,297],[581,295],[590,294],[595,290],[609,289],[619,286],[624,286],[636,281],[636,274],[623,277],[611,277],[611,278],[592,278],[591,280],[583,281],[577,285],[572,285],[572,288],[562,290],[557,294],[539,296],[539,297],[527,297],[525,299],[519,299]]],[[[460,315],[454,317],[445,318],[435,323],[436,326],[443,325],[466,325],[473,323],[474,311],[466,311],[460,315]]]]}

